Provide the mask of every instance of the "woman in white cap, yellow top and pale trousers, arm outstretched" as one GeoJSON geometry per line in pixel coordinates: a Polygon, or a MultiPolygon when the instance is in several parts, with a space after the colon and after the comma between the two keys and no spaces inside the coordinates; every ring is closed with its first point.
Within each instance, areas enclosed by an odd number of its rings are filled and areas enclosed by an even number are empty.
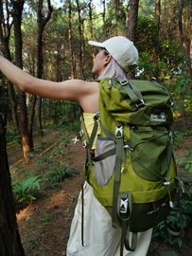
{"type": "MultiPolygon", "coordinates": [[[[98,48],[92,72],[99,79],[127,78],[129,70],[137,66],[137,49],[126,37],[112,37],[103,43],[89,41],[89,44],[98,48]]],[[[2,46],[0,50],[3,50],[2,46]]],[[[3,57],[2,52],[0,52],[0,69],[10,82],[24,92],[54,100],[78,101],[84,113],[85,125],[91,133],[93,114],[99,110],[98,82],[81,80],[50,82],[37,79],[11,64],[3,57]]],[[[95,145],[92,150],[94,149],[95,145]]],[[[92,187],[86,181],[83,188],[83,223],[81,223],[81,205],[80,192],[66,249],[67,256],[119,256],[121,229],[112,228],[111,216],[97,201],[92,187]],[[83,225],[83,246],[81,225],[83,225]]],[[[125,248],[123,255],[145,256],[151,233],[152,229],[139,233],[136,250],[131,252],[125,248]]]]}

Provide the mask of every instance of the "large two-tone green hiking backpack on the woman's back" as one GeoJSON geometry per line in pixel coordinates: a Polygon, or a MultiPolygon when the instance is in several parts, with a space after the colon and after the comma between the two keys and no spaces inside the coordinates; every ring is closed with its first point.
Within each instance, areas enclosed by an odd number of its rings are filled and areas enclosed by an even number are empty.
{"type": "Polygon", "coordinates": [[[122,229],[123,255],[124,245],[135,250],[137,232],[155,227],[173,208],[180,183],[170,131],[173,100],[155,81],[107,78],[99,91],[91,137],[81,121],[88,153],[84,175],[112,216],[113,228],[122,229]],[[98,125],[95,155],[90,155],[98,125]]]}

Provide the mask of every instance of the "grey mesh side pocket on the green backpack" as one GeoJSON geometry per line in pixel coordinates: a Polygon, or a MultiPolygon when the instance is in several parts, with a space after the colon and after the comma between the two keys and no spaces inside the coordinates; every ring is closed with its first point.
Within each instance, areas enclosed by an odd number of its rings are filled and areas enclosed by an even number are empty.
{"type": "MultiPolygon", "coordinates": [[[[112,150],[113,148],[115,148],[115,143],[110,137],[97,137],[95,150],[96,156],[112,150]]],[[[114,164],[115,154],[95,162],[94,177],[100,186],[106,186],[111,180],[114,164]]]]}

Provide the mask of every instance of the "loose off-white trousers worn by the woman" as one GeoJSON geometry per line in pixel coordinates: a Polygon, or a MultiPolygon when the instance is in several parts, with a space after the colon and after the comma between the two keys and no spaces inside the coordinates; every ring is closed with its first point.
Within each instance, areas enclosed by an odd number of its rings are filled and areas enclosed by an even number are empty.
{"type": "MultiPolygon", "coordinates": [[[[70,230],[67,256],[119,256],[121,229],[112,228],[112,218],[96,200],[92,187],[84,184],[84,247],[81,246],[81,192],[70,230]]],[[[138,233],[134,252],[124,248],[124,256],[146,256],[152,229],[138,233]]]]}

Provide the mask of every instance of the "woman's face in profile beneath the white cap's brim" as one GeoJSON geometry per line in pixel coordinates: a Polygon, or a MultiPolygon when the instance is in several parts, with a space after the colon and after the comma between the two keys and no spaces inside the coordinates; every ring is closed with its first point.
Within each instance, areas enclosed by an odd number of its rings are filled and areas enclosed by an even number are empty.
{"type": "Polygon", "coordinates": [[[109,63],[109,55],[106,55],[105,48],[99,48],[98,53],[96,54],[95,63],[92,69],[93,74],[99,76],[103,70],[105,69],[106,65],[109,63]]]}

